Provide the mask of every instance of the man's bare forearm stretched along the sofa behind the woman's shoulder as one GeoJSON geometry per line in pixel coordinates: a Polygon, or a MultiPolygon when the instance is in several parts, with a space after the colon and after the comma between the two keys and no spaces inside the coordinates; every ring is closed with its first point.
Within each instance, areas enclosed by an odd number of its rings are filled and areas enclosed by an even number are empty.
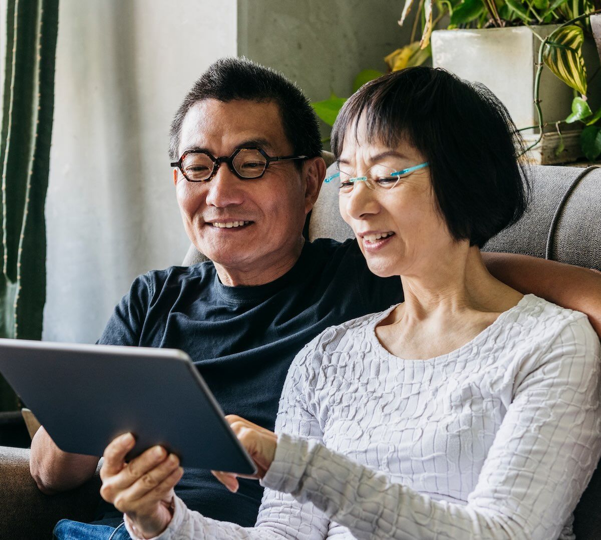
{"type": "Polygon", "coordinates": [[[482,252],[488,271],[519,292],[582,311],[601,336],[601,272],[512,253],[482,252]]]}

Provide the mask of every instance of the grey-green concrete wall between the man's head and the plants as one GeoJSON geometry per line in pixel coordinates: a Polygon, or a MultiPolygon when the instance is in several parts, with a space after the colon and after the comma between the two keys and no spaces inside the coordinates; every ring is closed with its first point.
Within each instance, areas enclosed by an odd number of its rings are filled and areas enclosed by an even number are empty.
{"type": "MultiPolygon", "coordinates": [[[[386,72],[383,57],[409,42],[413,22],[409,17],[398,26],[403,4],[390,0],[239,0],[238,5],[238,54],[284,73],[314,101],[332,91],[350,96],[361,70],[386,72]]],[[[326,124],[322,133],[329,135],[326,124]]]]}

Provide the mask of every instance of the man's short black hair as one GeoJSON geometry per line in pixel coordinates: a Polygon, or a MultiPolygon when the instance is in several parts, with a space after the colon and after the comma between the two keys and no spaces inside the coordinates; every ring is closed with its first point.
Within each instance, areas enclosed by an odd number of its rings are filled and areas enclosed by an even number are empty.
{"type": "MultiPolygon", "coordinates": [[[[230,102],[245,99],[273,101],[279,106],[284,133],[294,155],[315,158],[322,155],[322,138],[317,116],[307,97],[283,75],[246,58],[221,58],[194,83],[177,109],[169,130],[169,158],[176,161],[182,124],[195,103],[216,99],[230,102]]],[[[302,167],[302,161],[297,164],[302,167]]]]}

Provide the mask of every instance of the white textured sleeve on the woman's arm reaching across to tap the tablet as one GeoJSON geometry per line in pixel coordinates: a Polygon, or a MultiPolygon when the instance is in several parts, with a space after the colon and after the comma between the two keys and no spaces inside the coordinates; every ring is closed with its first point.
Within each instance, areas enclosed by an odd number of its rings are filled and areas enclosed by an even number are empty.
{"type": "Polygon", "coordinates": [[[599,349],[579,318],[525,367],[466,505],[392,483],[296,434],[279,435],[262,483],[313,503],[356,538],[555,539],[601,455],[599,349]]]}

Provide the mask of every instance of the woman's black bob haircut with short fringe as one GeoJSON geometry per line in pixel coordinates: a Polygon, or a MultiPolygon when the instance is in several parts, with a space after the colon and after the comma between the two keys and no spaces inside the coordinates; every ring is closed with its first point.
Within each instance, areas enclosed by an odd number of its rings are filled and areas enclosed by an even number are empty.
{"type": "Polygon", "coordinates": [[[344,138],[415,147],[429,162],[439,210],[451,235],[482,247],[520,218],[530,187],[524,143],[507,109],[488,88],[443,69],[410,67],[353,94],[332,130],[336,159],[344,138]]]}

